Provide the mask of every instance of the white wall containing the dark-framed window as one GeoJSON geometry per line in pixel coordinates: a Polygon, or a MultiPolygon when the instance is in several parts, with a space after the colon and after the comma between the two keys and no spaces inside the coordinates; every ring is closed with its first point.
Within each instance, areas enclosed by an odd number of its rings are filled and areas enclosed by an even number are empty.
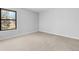
{"type": "Polygon", "coordinates": [[[17,11],[17,30],[0,31],[0,39],[7,39],[38,31],[38,14],[22,9],[12,8],[17,11]]]}

